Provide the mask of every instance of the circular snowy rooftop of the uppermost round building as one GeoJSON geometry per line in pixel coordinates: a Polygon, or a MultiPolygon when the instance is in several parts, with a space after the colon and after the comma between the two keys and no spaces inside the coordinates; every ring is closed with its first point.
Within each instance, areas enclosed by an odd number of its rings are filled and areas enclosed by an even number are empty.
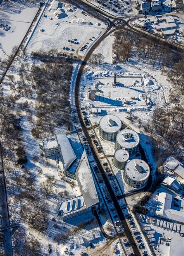
{"type": "Polygon", "coordinates": [[[121,129],[122,121],[117,116],[106,115],[100,119],[99,126],[104,132],[115,133],[121,129]]]}

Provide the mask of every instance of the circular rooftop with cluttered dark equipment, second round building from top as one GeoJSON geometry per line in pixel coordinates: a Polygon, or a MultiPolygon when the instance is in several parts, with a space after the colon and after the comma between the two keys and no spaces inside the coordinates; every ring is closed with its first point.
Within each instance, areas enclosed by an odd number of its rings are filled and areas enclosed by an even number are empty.
{"type": "Polygon", "coordinates": [[[118,132],[116,141],[122,148],[135,148],[139,144],[139,135],[130,129],[124,129],[118,132]]]}

